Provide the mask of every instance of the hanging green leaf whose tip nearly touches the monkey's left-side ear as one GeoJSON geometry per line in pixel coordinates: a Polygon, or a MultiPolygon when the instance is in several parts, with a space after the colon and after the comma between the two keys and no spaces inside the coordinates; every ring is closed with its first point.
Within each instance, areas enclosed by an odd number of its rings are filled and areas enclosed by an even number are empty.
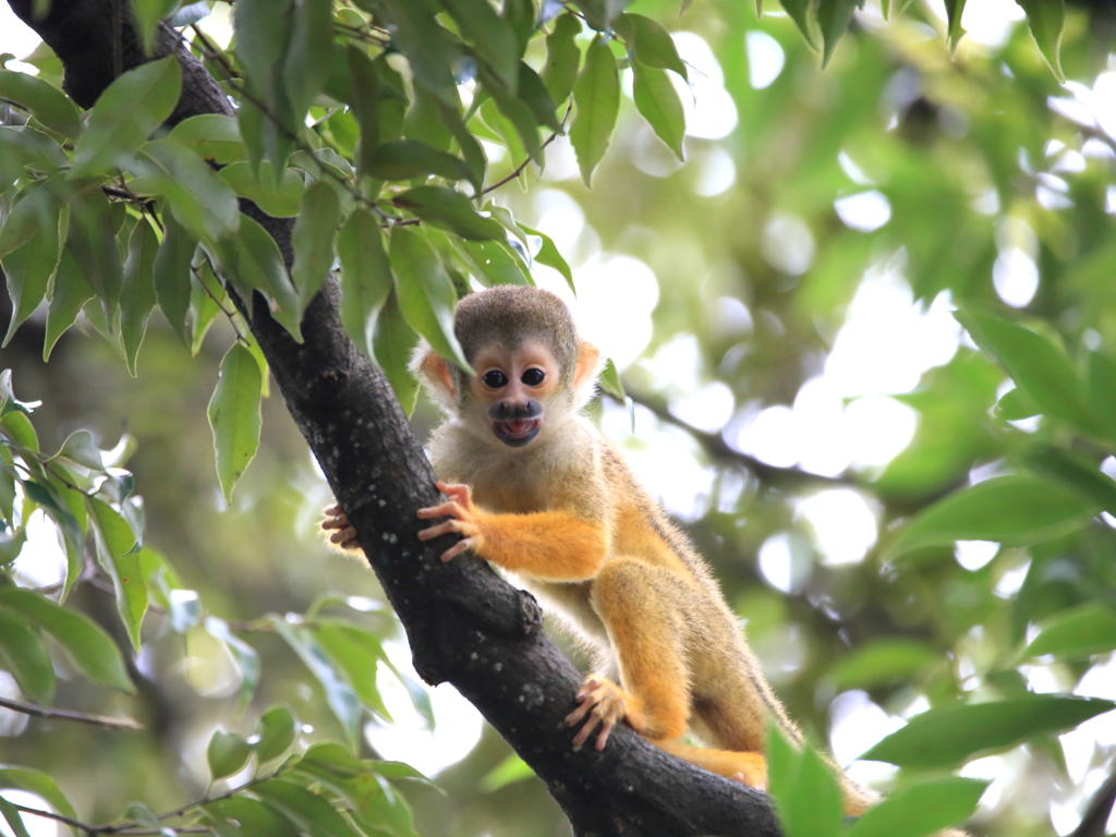
{"type": "MultiPolygon", "coordinates": [[[[441,357],[472,374],[453,334],[458,295],[437,253],[419,233],[396,227],[392,230],[391,263],[396,298],[407,325],[425,337],[441,357]]],[[[378,346],[376,350],[378,356],[378,346]]]]}

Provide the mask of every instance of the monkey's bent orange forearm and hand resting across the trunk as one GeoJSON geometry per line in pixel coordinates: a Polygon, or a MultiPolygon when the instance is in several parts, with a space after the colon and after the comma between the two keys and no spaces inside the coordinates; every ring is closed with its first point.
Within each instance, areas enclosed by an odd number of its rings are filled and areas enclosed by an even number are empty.
{"type": "Polygon", "coordinates": [[[448,532],[464,536],[442,560],[472,549],[485,560],[545,581],[584,581],[600,570],[608,551],[604,527],[568,511],[536,511],[528,514],[490,514],[478,509],[468,485],[437,483],[451,499],[441,506],[420,509],[420,518],[450,517],[443,523],[419,532],[430,540],[448,532]]]}

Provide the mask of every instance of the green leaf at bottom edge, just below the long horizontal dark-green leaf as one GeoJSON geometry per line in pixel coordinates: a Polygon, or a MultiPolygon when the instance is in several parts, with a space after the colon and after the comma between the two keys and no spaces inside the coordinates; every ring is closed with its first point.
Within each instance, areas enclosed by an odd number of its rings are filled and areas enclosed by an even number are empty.
{"type": "Polygon", "coordinates": [[[951,777],[892,791],[853,824],[848,837],[924,837],[969,819],[985,788],[983,779],[951,777]]]}

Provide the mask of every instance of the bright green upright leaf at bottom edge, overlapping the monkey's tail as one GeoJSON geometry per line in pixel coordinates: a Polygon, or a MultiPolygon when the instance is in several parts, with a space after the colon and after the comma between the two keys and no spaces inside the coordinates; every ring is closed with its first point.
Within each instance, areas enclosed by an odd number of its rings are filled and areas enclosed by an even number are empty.
{"type": "Polygon", "coordinates": [[[841,801],[837,780],[810,747],[796,749],[771,723],[768,786],[786,837],[836,837],[841,801]]]}

